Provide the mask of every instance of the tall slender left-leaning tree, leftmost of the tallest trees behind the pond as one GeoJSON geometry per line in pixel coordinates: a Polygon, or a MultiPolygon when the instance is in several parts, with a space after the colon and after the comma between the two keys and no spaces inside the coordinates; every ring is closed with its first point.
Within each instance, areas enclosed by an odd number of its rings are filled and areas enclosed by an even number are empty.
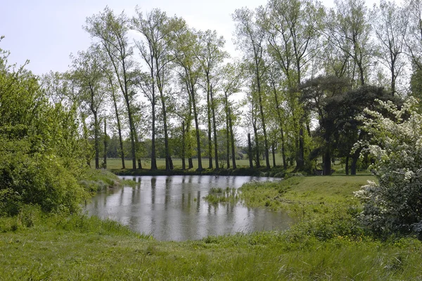
{"type": "MultiPolygon", "coordinates": [[[[122,91],[127,107],[132,147],[132,169],[136,169],[137,136],[132,112],[135,92],[131,89],[132,83],[129,79],[133,50],[127,38],[127,21],[124,13],[116,16],[110,8],[106,7],[102,13],[87,18],[87,25],[84,26],[84,29],[91,34],[91,37],[99,39],[101,46],[103,46],[110,58],[110,63],[113,65],[117,84],[120,87],[120,91],[122,91]]],[[[140,160],[139,168],[141,168],[140,160]]]]}

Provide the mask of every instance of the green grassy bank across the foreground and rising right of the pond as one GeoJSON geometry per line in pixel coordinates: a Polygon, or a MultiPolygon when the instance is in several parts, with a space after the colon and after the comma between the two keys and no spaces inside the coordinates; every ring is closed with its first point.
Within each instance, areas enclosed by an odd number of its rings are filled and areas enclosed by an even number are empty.
{"type": "Polygon", "coordinates": [[[296,214],[295,206],[302,206],[305,215],[285,233],[187,242],[158,242],[113,221],[43,216],[29,208],[0,218],[0,279],[422,280],[420,241],[381,242],[353,229],[352,191],[365,181],[363,176],[301,177],[246,185],[245,204],[270,202],[273,209],[290,206],[296,214]],[[247,202],[252,194],[265,200],[247,202]]]}

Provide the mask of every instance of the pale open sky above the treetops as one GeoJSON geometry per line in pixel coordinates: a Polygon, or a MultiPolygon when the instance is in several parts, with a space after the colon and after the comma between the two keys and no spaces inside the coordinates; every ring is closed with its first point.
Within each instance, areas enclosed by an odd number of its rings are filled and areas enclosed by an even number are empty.
{"type": "MultiPolygon", "coordinates": [[[[226,39],[226,51],[236,57],[232,35],[231,14],[236,8],[256,8],[267,0],[1,0],[0,48],[10,51],[8,63],[22,65],[30,60],[27,69],[34,74],[65,72],[69,69],[70,53],[84,51],[91,38],[82,29],[87,17],[109,6],[116,14],[124,11],[134,15],[136,5],[148,12],[160,8],[167,15],[177,15],[197,30],[217,30],[226,39]]],[[[370,1],[371,3],[373,0],[370,1]]],[[[326,7],[333,0],[322,1],[326,7]]],[[[370,6],[369,4],[367,6],[370,6]]]]}

